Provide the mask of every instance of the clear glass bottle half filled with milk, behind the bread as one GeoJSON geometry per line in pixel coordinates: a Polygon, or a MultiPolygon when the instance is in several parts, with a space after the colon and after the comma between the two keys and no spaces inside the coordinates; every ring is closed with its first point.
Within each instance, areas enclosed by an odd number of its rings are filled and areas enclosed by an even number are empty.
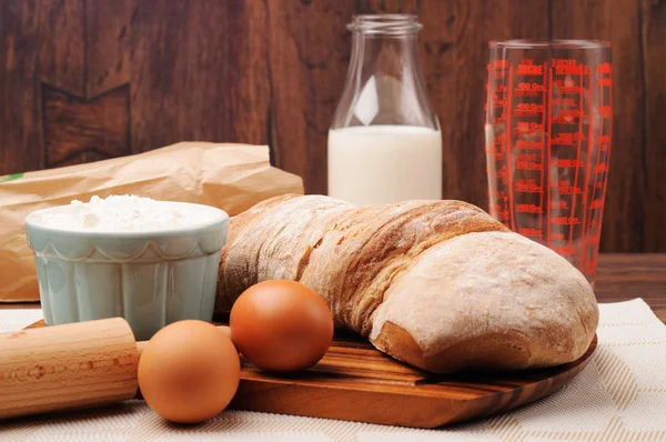
{"type": "Polygon", "coordinates": [[[329,131],[329,195],[354,204],[442,199],[442,133],[418,63],[415,16],[355,16],[329,131]]]}

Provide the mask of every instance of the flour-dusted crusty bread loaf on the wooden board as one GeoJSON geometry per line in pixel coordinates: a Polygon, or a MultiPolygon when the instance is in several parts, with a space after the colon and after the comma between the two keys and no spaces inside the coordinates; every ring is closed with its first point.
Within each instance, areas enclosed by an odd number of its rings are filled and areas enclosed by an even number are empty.
{"type": "Polygon", "coordinates": [[[571,362],[598,322],[577,269],[461,201],[278,197],[232,219],[221,258],[216,311],[256,282],[300,281],[339,323],[436,373],[571,362]]]}

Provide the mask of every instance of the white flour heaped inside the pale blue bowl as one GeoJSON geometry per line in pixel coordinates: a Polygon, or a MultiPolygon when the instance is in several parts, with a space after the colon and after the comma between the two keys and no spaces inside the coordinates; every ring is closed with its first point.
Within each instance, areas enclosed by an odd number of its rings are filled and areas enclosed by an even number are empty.
{"type": "Polygon", "coordinates": [[[147,231],[192,227],[219,218],[206,207],[155,201],[135,195],[92,197],[90,202],[74,200],[57,212],[37,219],[41,225],[84,231],[147,231]]]}

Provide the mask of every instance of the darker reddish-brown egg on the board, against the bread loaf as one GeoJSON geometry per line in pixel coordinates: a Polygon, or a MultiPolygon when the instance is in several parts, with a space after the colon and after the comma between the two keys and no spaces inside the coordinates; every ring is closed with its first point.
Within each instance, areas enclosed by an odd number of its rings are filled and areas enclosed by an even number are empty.
{"type": "Polygon", "coordinates": [[[333,340],[326,302],[294,281],[264,281],[245,290],[231,309],[229,325],[239,351],[269,371],[312,366],[333,340]]]}

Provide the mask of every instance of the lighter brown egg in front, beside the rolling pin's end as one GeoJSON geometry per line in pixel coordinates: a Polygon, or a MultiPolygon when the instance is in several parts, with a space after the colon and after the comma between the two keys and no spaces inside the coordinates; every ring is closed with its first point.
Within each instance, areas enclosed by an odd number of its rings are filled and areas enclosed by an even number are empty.
{"type": "Polygon", "coordinates": [[[139,388],[162,418],[202,422],[229,405],[239,388],[239,353],[221,329],[179,321],[155,333],[141,353],[139,388]]]}

